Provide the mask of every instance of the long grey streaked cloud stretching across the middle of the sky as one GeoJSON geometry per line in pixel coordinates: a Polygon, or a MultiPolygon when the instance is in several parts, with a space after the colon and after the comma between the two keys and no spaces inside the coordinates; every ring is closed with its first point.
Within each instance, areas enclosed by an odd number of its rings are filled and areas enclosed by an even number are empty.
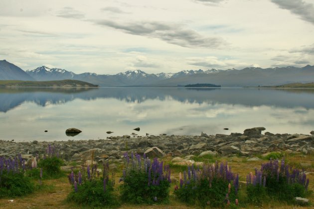
{"type": "Polygon", "coordinates": [[[183,28],[179,24],[166,24],[157,21],[119,23],[111,20],[97,20],[95,23],[133,35],[158,38],[182,47],[220,48],[226,45],[226,41],[220,37],[205,37],[194,30],[183,28]]]}

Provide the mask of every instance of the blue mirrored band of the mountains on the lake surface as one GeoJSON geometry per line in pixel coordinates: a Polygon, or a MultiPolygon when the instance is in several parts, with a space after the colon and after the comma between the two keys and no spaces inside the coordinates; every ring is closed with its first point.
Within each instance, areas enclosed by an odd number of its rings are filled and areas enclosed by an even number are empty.
{"type": "Polygon", "coordinates": [[[314,90],[311,89],[0,88],[0,111],[6,112],[24,102],[46,106],[75,99],[89,101],[100,98],[114,98],[127,103],[172,98],[181,103],[314,107],[314,90]]]}

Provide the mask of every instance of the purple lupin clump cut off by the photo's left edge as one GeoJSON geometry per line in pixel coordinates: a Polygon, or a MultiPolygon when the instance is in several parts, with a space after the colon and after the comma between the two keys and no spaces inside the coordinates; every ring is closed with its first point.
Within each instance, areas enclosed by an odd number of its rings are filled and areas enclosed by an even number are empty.
{"type": "Polygon", "coordinates": [[[25,160],[21,156],[0,157],[0,197],[17,197],[32,193],[34,184],[24,176],[25,160]]]}

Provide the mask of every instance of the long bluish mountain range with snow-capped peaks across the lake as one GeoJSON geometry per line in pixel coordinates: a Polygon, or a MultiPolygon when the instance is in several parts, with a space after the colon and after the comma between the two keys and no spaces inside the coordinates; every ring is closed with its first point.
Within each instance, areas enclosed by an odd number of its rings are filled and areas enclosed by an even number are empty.
{"type": "Polygon", "coordinates": [[[0,80],[80,80],[101,87],[177,87],[188,84],[215,84],[222,87],[276,86],[289,83],[314,82],[314,66],[255,68],[242,70],[183,70],[178,73],[147,74],[141,70],[126,71],[116,75],[98,75],[95,73],[75,74],[59,69],[38,67],[26,72],[3,60],[0,61],[0,80]]]}

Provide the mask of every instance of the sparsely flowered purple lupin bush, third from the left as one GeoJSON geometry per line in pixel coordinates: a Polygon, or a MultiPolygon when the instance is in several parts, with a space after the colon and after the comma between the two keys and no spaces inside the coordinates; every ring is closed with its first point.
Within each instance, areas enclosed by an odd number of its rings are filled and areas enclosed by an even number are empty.
{"type": "MultiPolygon", "coordinates": [[[[115,208],[119,206],[114,194],[115,180],[109,180],[109,165],[104,164],[103,176],[99,176],[97,165],[92,169],[87,166],[86,173],[84,170],[74,175],[73,171],[68,176],[72,184],[73,191],[68,195],[67,201],[88,207],[108,207],[115,208]],[[92,172],[90,171],[92,170],[92,172]]],[[[114,174],[113,174],[114,176],[114,174]]]]}

